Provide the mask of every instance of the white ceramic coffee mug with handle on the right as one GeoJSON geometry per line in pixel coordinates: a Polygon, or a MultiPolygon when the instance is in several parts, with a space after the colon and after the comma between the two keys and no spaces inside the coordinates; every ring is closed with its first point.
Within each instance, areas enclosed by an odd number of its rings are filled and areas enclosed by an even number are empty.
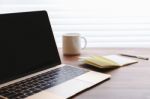
{"type": "Polygon", "coordinates": [[[79,33],[67,33],[63,35],[63,54],[64,55],[79,55],[81,49],[85,49],[87,40],[79,33]],[[84,40],[84,46],[81,48],[81,39],[84,40]]]}

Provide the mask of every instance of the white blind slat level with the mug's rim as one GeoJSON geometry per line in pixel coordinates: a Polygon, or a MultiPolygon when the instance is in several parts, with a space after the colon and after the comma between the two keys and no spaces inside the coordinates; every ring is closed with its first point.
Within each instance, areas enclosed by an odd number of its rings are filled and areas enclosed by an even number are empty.
{"type": "Polygon", "coordinates": [[[82,36],[86,37],[150,37],[150,31],[54,31],[56,37],[61,37],[64,33],[81,33],[82,36]]]}

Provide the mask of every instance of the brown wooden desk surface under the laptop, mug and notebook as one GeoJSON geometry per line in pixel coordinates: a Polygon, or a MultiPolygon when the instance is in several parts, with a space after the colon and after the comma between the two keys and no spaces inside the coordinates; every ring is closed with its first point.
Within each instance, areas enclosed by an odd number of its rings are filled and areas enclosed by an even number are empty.
{"type": "MultiPolygon", "coordinates": [[[[61,49],[59,52],[62,63],[79,65],[79,56],[63,56],[61,49]]],[[[150,57],[150,49],[144,48],[89,48],[83,50],[80,56],[108,55],[121,52],[150,57]]],[[[138,59],[138,61],[139,63],[113,70],[80,66],[111,74],[112,78],[76,95],[73,99],[150,99],[150,60],[138,59]]]]}

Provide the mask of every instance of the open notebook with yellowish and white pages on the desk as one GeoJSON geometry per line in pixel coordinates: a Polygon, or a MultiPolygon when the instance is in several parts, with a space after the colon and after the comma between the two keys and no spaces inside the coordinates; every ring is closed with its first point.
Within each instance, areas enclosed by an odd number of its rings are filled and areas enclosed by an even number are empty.
{"type": "Polygon", "coordinates": [[[80,57],[80,61],[84,64],[92,65],[98,68],[122,67],[138,62],[137,60],[120,55],[80,57]]]}

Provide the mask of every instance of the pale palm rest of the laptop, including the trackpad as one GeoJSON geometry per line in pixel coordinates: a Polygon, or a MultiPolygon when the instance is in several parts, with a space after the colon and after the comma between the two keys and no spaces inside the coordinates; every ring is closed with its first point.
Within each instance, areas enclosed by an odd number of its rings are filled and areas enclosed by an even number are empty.
{"type": "Polygon", "coordinates": [[[66,99],[110,77],[107,74],[90,71],[26,99],[42,99],[43,97],[44,99],[66,99]]]}

